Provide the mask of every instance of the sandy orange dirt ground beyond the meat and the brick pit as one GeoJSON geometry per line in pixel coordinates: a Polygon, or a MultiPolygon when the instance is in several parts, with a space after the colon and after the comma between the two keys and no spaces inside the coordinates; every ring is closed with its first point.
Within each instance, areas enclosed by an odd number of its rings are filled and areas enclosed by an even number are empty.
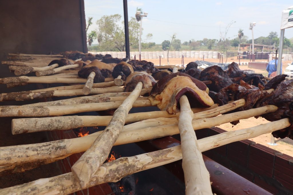
{"type": "MultiPolygon", "coordinates": [[[[159,59],[145,59],[147,61],[151,61],[153,62],[155,65],[159,65],[159,59]]],[[[198,59],[198,58],[185,58],[184,59],[184,64],[188,64],[191,61],[196,61],[196,60],[202,60],[202,59],[198,59]]],[[[219,62],[219,59],[205,59],[205,61],[209,61],[209,62],[219,62]]],[[[237,62],[239,63],[239,59],[236,59],[236,57],[232,57],[232,58],[228,58],[227,62],[237,62]]],[[[255,60],[255,61],[267,61],[265,59],[263,60],[255,60]]],[[[225,62],[225,59],[224,59],[225,62]]],[[[241,59],[241,62],[249,62],[249,59],[241,59]]],[[[291,61],[282,61],[282,70],[284,71],[285,68],[287,67],[287,64],[291,63],[291,61]]],[[[170,65],[180,65],[181,64],[181,58],[177,58],[177,59],[169,59],[169,64],[170,65]]],[[[161,59],[161,65],[168,65],[167,63],[167,59],[161,59]]],[[[268,72],[266,70],[261,70],[261,69],[251,69],[248,68],[248,66],[239,66],[241,70],[254,70],[255,73],[258,74],[263,74],[264,76],[268,76],[268,72]]],[[[238,129],[245,129],[245,128],[249,128],[249,127],[253,127],[259,124],[265,124],[268,123],[269,121],[267,121],[266,119],[259,117],[258,119],[255,119],[254,117],[251,117],[249,119],[242,119],[240,120],[240,123],[237,124],[236,126],[233,126],[230,123],[226,123],[226,124],[222,124],[220,126],[218,126],[219,128],[222,128],[226,131],[233,131],[233,130],[238,130],[238,129]]],[[[264,146],[267,146],[269,148],[272,148],[274,150],[277,150],[281,153],[293,156],[293,140],[289,139],[289,138],[285,138],[285,139],[276,139],[275,138],[275,143],[277,143],[277,146],[270,146],[267,143],[270,142],[271,139],[271,134],[263,134],[261,136],[252,138],[250,140],[254,141],[255,143],[259,143],[262,144],[264,146]]]]}

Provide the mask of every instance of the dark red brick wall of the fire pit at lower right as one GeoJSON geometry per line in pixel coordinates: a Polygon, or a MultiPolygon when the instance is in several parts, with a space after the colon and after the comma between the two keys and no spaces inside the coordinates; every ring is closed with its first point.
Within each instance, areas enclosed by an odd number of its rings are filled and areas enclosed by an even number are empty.
{"type": "MultiPolygon", "coordinates": [[[[195,132],[200,139],[225,130],[211,128],[195,132]]],[[[293,194],[292,156],[250,140],[230,143],[203,154],[273,194],[293,194]]]]}

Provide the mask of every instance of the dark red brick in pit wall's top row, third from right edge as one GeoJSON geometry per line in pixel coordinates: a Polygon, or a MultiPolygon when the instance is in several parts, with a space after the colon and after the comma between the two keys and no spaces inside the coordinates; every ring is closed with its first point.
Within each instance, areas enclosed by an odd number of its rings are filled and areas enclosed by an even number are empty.
{"type": "Polygon", "coordinates": [[[247,167],[248,146],[247,143],[240,141],[227,144],[227,158],[243,167],[247,167]]]}

